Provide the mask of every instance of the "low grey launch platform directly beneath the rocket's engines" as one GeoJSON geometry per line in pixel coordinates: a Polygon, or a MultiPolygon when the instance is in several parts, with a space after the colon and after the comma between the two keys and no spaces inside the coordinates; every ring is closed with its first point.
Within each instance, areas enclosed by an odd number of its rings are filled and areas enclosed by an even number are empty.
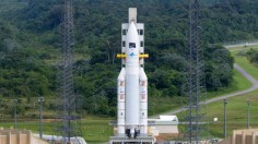
{"type": "Polygon", "coordinates": [[[148,136],[137,136],[136,139],[129,139],[128,136],[110,136],[110,144],[154,144],[155,137],[148,136]]]}

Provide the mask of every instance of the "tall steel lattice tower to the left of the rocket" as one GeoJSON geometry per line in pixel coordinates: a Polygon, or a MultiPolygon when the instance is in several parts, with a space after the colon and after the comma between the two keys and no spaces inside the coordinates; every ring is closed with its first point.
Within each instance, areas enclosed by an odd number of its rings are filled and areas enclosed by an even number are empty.
{"type": "Polygon", "coordinates": [[[62,14],[62,61],[59,75],[60,83],[60,106],[58,108],[58,117],[55,127],[56,134],[62,135],[61,143],[71,142],[72,136],[78,136],[78,122],[80,117],[77,113],[77,101],[73,89],[72,76],[72,46],[73,39],[73,13],[72,0],[64,0],[62,14]]]}

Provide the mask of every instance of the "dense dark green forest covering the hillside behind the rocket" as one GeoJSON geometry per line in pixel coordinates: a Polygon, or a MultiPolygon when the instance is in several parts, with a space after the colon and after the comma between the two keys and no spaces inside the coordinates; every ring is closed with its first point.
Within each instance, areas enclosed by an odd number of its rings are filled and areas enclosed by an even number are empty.
{"type": "MultiPolygon", "coordinates": [[[[56,96],[61,49],[60,0],[0,1],[1,96],[56,96]]],[[[138,8],[145,24],[150,111],[155,99],[180,95],[188,68],[188,4],[177,0],[74,0],[74,88],[91,113],[116,113],[120,24],[138,8]]],[[[258,2],[210,1],[201,8],[201,39],[209,91],[231,85],[233,59],[215,43],[258,38],[258,2]],[[254,8],[254,9],[251,9],[254,8]]],[[[159,101],[161,103],[161,101],[159,101]]]]}

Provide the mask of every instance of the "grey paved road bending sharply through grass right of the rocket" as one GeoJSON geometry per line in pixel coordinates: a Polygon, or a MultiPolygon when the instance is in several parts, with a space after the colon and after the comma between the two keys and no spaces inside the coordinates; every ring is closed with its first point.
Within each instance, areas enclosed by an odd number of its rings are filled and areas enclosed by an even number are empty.
{"type": "MultiPolygon", "coordinates": [[[[244,94],[247,94],[247,93],[253,92],[255,89],[258,89],[258,81],[256,79],[254,79],[250,74],[248,74],[245,70],[243,70],[236,63],[234,64],[234,69],[237,70],[238,72],[241,72],[242,75],[245,76],[253,84],[253,86],[250,88],[242,91],[242,92],[236,92],[233,94],[227,94],[227,95],[223,95],[223,96],[208,99],[206,101],[201,101],[200,103],[201,105],[210,104],[210,103],[218,101],[218,100],[223,100],[225,98],[230,98],[230,97],[237,96],[237,95],[244,95],[244,94]]],[[[185,111],[185,110],[186,110],[185,108],[179,108],[179,109],[176,109],[176,110],[173,110],[173,111],[169,111],[166,113],[161,113],[161,115],[176,115],[176,113],[185,111]]],[[[159,116],[153,116],[152,118],[159,118],[159,116]]]]}

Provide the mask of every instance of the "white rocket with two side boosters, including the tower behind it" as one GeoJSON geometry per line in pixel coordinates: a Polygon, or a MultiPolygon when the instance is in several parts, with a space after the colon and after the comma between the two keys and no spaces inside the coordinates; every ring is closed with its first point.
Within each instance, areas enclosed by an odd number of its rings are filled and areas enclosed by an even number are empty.
{"type": "Polygon", "coordinates": [[[117,80],[117,133],[128,137],[146,135],[148,77],[143,70],[144,24],[137,23],[137,9],[129,8],[129,22],[121,25],[122,68],[117,80]]]}

